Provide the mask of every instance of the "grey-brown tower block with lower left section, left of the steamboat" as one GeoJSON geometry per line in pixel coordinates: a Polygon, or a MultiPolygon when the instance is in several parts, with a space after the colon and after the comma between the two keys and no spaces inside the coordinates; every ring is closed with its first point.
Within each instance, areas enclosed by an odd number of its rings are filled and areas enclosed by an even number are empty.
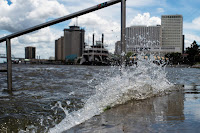
{"type": "Polygon", "coordinates": [[[81,57],[85,47],[85,30],[79,26],[64,29],[64,37],[55,41],[55,59],[66,60],[81,57]]]}

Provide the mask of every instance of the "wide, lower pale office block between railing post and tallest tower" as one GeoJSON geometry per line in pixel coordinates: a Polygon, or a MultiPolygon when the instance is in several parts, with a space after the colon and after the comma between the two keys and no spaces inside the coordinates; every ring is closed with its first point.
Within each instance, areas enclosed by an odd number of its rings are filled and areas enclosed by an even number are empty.
{"type": "Polygon", "coordinates": [[[150,51],[159,47],[161,26],[131,26],[126,28],[127,52],[150,51]]]}

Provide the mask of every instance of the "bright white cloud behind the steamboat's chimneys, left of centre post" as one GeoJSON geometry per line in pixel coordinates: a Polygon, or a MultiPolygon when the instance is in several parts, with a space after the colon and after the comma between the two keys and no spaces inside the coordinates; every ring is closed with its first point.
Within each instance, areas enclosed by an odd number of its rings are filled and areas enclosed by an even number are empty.
{"type": "MultiPolygon", "coordinates": [[[[86,42],[88,42],[88,36],[92,38],[93,33],[95,33],[95,40],[101,39],[101,34],[104,33],[105,43],[109,45],[108,49],[114,52],[114,44],[120,40],[121,25],[119,23],[100,17],[96,13],[83,15],[78,18],[78,21],[81,27],[86,27],[86,42]]],[[[75,23],[76,19],[73,19],[69,25],[74,25],[75,23]]],[[[92,41],[89,42],[91,45],[92,41]]]]}

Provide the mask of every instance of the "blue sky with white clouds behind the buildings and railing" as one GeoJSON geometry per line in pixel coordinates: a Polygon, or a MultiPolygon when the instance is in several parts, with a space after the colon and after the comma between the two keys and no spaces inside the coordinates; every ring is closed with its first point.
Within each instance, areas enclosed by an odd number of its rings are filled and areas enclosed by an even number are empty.
{"type": "MultiPolygon", "coordinates": [[[[0,37],[97,5],[106,0],[0,0],[0,37]]],[[[181,14],[184,19],[185,44],[194,40],[200,44],[199,0],[127,0],[127,26],[161,24],[161,15],[181,14]]],[[[92,33],[96,40],[105,34],[110,52],[120,40],[120,4],[101,9],[12,39],[12,54],[24,57],[24,47],[37,47],[37,56],[54,56],[55,40],[63,35],[63,29],[78,25],[86,30],[85,41],[91,44],[92,33]],[[77,21],[78,20],[78,21],[77,21]]],[[[5,54],[5,42],[0,43],[0,54],[5,54]]]]}

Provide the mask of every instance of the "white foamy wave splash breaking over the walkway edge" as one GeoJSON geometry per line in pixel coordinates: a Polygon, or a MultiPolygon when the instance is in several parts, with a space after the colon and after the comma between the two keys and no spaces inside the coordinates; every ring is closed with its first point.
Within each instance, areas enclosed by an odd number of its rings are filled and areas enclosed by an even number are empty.
{"type": "Polygon", "coordinates": [[[68,112],[58,102],[66,117],[49,133],[60,133],[75,125],[99,115],[108,106],[123,104],[129,100],[146,99],[160,95],[173,86],[167,78],[165,68],[153,64],[153,56],[148,60],[138,56],[138,65],[132,67],[113,67],[117,74],[97,85],[96,94],[91,96],[82,109],[68,112]]]}

